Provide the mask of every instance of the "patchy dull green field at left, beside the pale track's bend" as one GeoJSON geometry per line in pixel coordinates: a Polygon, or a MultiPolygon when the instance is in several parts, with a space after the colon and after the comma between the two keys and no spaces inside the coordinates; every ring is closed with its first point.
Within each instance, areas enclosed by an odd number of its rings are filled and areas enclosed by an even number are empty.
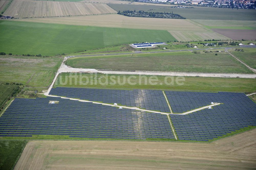
{"type": "Polygon", "coordinates": [[[23,83],[28,86],[49,86],[62,57],[0,56],[1,82],[23,83]]]}

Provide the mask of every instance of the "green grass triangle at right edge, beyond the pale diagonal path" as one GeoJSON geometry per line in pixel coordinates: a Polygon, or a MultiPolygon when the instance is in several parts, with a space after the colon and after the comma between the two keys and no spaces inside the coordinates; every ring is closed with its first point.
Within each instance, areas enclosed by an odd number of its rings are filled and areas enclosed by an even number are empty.
{"type": "MultiPolygon", "coordinates": [[[[241,48],[240,48],[241,49],[241,48]]],[[[232,51],[237,58],[242,60],[244,63],[256,69],[256,49],[255,48],[242,48],[244,51],[232,51]]]]}

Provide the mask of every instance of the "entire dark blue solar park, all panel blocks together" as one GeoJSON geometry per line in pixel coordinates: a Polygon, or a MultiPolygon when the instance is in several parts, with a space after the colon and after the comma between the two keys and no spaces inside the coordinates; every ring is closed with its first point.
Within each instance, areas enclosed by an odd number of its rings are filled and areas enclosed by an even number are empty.
{"type": "MultiPolygon", "coordinates": [[[[256,125],[256,104],[244,93],[165,91],[174,112],[169,114],[178,140],[209,141],[256,125]],[[221,103],[187,115],[187,110],[221,103]]],[[[169,112],[161,90],[52,88],[50,95],[118,103],[169,112]]],[[[160,113],[103,106],[60,97],[16,98],[0,117],[0,136],[48,134],[75,138],[175,140],[168,116],[160,113]],[[50,101],[59,101],[50,103],[50,101]]]]}

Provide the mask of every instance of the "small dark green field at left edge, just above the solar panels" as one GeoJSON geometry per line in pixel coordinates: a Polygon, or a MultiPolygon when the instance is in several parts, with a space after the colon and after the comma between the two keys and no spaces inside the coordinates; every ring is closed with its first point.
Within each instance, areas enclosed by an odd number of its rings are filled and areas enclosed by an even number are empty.
{"type": "Polygon", "coordinates": [[[3,104],[13,95],[19,91],[18,85],[5,85],[0,84],[0,110],[3,104]]]}

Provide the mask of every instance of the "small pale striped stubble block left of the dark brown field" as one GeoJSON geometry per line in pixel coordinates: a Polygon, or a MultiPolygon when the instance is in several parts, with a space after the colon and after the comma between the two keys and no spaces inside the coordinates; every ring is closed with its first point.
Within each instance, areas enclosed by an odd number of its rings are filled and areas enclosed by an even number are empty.
{"type": "Polygon", "coordinates": [[[169,31],[174,38],[178,41],[195,41],[195,40],[228,40],[230,38],[225,37],[217,32],[191,32],[191,31],[169,31]]]}

